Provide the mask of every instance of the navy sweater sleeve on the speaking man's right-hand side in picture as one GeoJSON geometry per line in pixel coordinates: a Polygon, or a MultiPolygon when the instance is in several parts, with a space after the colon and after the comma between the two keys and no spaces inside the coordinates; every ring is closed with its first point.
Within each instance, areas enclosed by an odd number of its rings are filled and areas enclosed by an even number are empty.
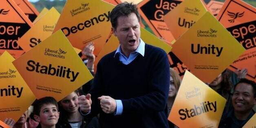
{"type": "Polygon", "coordinates": [[[166,108],[170,82],[169,61],[163,50],[155,55],[148,69],[149,92],[140,97],[122,99],[124,106],[122,115],[156,113],[166,108]]]}

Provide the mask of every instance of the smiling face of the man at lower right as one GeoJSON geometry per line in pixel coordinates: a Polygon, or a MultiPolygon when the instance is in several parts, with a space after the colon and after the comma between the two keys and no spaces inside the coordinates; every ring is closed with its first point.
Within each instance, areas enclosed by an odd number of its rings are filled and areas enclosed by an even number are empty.
{"type": "Polygon", "coordinates": [[[247,83],[237,84],[232,97],[232,104],[236,112],[243,113],[251,111],[254,104],[256,104],[252,85],[247,83]]]}

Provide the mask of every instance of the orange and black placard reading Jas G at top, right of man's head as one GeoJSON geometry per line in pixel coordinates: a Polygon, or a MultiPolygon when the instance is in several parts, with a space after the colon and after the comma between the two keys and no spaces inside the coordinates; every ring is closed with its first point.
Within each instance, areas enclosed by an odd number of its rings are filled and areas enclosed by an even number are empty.
{"type": "Polygon", "coordinates": [[[163,22],[163,16],[180,3],[178,0],[143,0],[138,5],[139,13],[157,37],[173,42],[174,37],[163,22]]]}

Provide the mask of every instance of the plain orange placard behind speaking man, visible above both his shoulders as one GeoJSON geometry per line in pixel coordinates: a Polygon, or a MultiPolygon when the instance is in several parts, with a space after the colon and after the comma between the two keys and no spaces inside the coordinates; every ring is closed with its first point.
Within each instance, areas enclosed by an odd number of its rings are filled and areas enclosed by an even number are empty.
{"type": "MultiPolygon", "coordinates": [[[[166,54],[168,54],[171,51],[172,46],[166,44],[166,42],[163,42],[161,39],[157,38],[146,29],[141,28],[140,30],[141,30],[141,39],[143,40],[143,42],[163,49],[166,52],[166,54]]],[[[99,60],[102,57],[104,57],[104,55],[117,50],[118,46],[119,46],[119,40],[117,39],[117,37],[114,35],[110,35],[108,42],[104,45],[102,51],[100,51],[98,57],[95,59],[95,62],[94,62],[95,73],[97,70],[97,64],[99,60]]]]}

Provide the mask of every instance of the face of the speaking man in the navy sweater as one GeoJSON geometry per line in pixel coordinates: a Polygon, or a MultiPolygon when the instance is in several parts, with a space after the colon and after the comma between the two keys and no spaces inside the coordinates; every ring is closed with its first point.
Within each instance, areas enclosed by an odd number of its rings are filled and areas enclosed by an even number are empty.
{"type": "Polygon", "coordinates": [[[140,25],[135,13],[128,16],[117,18],[117,28],[112,28],[113,33],[117,36],[122,52],[129,56],[139,46],[141,36],[140,25]]]}

